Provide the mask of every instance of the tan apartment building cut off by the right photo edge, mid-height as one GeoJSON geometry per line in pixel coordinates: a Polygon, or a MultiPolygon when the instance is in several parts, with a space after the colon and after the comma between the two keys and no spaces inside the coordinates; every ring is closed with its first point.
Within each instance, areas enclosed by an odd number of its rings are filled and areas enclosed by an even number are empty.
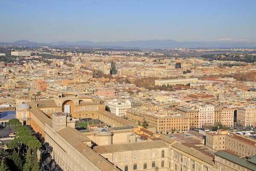
{"type": "Polygon", "coordinates": [[[256,106],[243,106],[237,108],[236,121],[242,126],[256,126],[256,106]]]}

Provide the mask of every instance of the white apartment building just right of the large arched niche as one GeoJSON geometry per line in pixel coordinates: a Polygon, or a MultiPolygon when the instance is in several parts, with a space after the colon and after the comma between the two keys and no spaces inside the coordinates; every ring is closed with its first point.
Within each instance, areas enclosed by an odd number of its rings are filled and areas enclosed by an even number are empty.
{"type": "Polygon", "coordinates": [[[106,103],[106,105],[108,105],[112,114],[119,117],[126,117],[126,109],[131,108],[131,102],[129,100],[121,102],[120,100],[114,99],[111,102],[106,103]]]}

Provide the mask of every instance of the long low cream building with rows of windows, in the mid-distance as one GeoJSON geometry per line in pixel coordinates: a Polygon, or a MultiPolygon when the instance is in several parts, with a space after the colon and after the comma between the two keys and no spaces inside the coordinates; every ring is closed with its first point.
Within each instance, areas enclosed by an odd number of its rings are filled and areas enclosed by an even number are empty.
{"type": "Polygon", "coordinates": [[[171,80],[155,80],[155,85],[187,85],[190,83],[197,83],[198,78],[181,78],[181,79],[171,79],[171,80]]]}

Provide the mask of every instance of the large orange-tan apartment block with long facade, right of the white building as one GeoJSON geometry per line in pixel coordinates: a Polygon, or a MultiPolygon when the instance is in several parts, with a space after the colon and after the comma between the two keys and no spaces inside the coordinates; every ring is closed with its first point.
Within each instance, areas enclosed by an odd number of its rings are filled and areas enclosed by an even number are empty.
{"type": "Polygon", "coordinates": [[[189,116],[163,108],[131,108],[127,109],[127,117],[133,122],[143,123],[146,120],[149,126],[163,134],[189,130],[189,116]]]}

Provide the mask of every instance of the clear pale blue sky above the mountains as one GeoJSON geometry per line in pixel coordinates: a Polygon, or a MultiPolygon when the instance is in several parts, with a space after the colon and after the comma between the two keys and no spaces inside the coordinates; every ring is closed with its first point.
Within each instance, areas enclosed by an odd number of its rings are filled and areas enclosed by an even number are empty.
{"type": "Polygon", "coordinates": [[[0,42],[256,41],[256,0],[0,0],[0,42]]]}

